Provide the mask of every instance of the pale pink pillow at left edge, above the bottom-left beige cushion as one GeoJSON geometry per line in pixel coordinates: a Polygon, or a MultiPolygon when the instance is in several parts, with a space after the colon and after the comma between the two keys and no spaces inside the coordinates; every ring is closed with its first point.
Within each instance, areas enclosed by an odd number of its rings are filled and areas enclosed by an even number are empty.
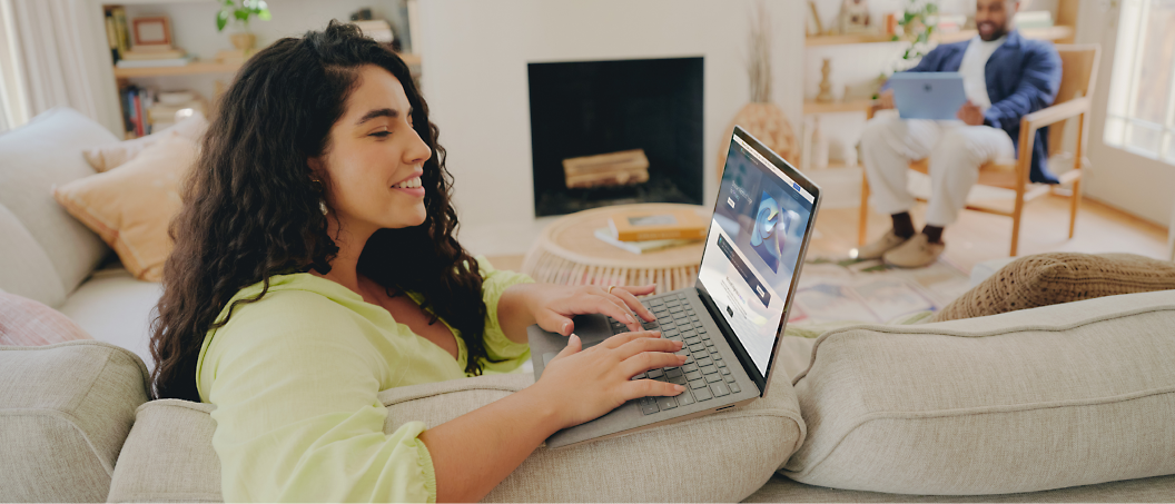
{"type": "Polygon", "coordinates": [[[0,345],[40,347],[74,340],[93,337],[58,310],[0,293],[0,345]]]}

